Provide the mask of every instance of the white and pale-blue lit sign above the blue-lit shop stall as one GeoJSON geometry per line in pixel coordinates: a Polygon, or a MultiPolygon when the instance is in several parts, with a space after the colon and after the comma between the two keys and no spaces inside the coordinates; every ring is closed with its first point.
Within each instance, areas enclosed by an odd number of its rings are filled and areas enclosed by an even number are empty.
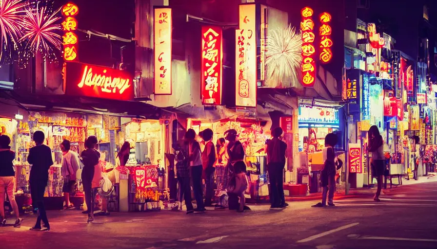
{"type": "MultiPolygon", "coordinates": [[[[328,127],[339,125],[338,110],[329,107],[299,107],[299,126],[301,124],[319,124],[328,127]]],[[[320,126],[322,127],[322,126],[320,126]]]]}

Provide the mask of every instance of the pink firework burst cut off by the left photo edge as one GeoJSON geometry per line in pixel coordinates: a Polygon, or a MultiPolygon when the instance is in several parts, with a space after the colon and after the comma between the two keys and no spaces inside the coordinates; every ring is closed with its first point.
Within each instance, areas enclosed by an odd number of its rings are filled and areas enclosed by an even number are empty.
{"type": "Polygon", "coordinates": [[[26,3],[22,0],[0,0],[0,58],[3,51],[10,53],[17,49],[17,42],[21,35],[22,15],[26,3]]]}

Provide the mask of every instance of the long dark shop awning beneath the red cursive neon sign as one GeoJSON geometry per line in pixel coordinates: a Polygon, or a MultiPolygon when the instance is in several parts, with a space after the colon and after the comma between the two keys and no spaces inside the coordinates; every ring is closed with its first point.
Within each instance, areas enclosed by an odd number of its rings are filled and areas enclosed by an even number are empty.
{"type": "Polygon", "coordinates": [[[161,109],[139,101],[120,101],[66,95],[19,94],[0,91],[0,98],[20,103],[28,111],[70,111],[119,117],[159,119],[161,109]]]}

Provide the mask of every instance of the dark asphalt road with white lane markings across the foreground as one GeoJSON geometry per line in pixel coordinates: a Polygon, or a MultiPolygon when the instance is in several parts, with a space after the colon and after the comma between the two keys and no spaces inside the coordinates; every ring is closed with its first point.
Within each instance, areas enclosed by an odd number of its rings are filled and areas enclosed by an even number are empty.
{"type": "MultiPolygon", "coordinates": [[[[111,213],[86,224],[76,210],[50,211],[51,231],[0,228],[0,248],[437,248],[437,182],[401,186],[381,196],[346,198],[336,207],[290,202],[285,210],[111,213]]],[[[12,220],[10,220],[12,222],[12,220]]]]}

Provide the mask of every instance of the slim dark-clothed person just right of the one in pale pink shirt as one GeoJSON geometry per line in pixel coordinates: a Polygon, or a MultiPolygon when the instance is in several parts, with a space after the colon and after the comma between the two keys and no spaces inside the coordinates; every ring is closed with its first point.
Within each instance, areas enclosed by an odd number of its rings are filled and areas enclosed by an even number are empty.
{"type": "Polygon", "coordinates": [[[82,169],[82,184],[83,192],[85,194],[85,203],[87,210],[82,212],[88,214],[88,222],[94,220],[93,215],[93,199],[92,195],[92,181],[94,177],[94,166],[99,163],[100,153],[94,149],[97,144],[96,136],[89,136],[85,141],[85,150],[80,154],[83,163],[82,169]]]}

